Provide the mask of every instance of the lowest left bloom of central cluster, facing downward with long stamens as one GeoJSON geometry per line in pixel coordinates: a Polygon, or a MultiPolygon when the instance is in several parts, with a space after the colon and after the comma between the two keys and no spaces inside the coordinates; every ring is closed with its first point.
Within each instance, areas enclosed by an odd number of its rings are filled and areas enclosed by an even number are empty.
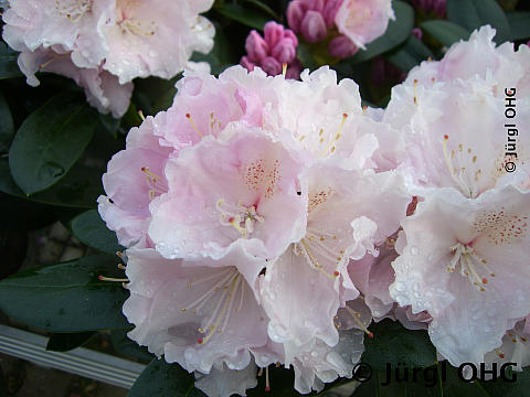
{"type": "Polygon", "coordinates": [[[210,373],[214,364],[244,369],[250,347],[267,342],[255,281],[264,261],[234,246],[220,261],[165,259],[150,248],[127,250],[124,313],[129,337],[168,363],[210,373]],[[241,271],[240,271],[241,269],[241,271]]]}

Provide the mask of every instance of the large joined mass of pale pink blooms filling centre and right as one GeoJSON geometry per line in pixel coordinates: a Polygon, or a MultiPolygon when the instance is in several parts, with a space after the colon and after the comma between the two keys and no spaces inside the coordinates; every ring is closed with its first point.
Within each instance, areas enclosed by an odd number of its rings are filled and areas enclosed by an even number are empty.
{"type": "Polygon", "coordinates": [[[530,121],[530,49],[494,34],[411,71],[385,110],[328,67],[186,73],[103,178],[129,336],[210,396],[274,363],[320,390],[383,318],[454,365],[528,364],[530,142],[504,126],[530,121]]]}

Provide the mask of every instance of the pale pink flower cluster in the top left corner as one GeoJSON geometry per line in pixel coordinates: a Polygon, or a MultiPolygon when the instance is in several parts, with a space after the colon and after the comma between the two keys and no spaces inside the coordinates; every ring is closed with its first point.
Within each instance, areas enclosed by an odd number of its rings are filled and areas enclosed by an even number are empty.
{"type": "Polygon", "coordinates": [[[3,40],[20,51],[28,84],[35,73],[73,78],[91,105],[120,117],[135,77],[171,78],[193,51],[213,46],[213,25],[200,12],[213,0],[9,0],[3,40]],[[170,44],[173,43],[173,44],[170,44]]]}

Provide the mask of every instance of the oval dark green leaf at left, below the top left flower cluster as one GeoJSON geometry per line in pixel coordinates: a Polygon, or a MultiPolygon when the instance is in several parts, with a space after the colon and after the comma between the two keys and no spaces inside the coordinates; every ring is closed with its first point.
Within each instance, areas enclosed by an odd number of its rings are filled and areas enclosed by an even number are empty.
{"type": "Polygon", "coordinates": [[[66,92],[50,99],[20,126],[9,151],[15,183],[28,194],[64,178],[94,133],[96,111],[82,94],[66,92]]]}

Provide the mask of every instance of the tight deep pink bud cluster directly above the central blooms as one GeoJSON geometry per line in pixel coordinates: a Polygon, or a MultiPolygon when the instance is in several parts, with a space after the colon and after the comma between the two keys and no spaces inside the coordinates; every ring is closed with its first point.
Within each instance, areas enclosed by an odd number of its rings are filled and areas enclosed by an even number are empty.
{"type": "Polygon", "coordinates": [[[241,58],[241,64],[251,72],[259,66],[269,76],[280,74],[286,64],[286,77],[298,78],[301,64],[296,57],[297,46],[298,39],[292,30],[271,21],[265,24],[264,37],[251,31],[245,42],[247,55],[241,58]]]}

